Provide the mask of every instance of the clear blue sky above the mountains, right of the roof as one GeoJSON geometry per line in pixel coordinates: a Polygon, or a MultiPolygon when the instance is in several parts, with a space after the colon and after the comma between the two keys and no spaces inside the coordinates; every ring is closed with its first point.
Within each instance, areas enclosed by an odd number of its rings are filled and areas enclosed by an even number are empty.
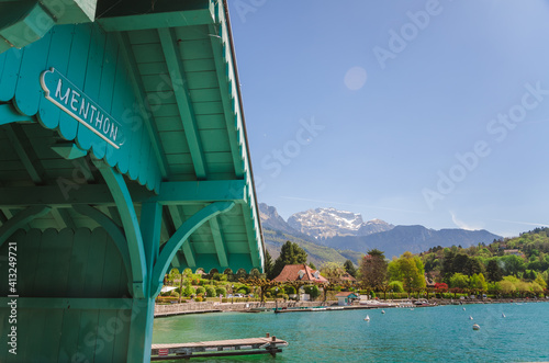
{"type": "Polygon", "coordinates": [[[229,0],[259,202],[549,225],[549,2],[229,0]]]}

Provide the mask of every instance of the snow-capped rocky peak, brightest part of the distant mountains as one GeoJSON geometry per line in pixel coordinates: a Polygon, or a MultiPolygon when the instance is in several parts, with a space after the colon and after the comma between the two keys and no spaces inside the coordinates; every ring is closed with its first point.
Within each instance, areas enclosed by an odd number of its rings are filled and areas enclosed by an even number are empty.
{"type": "Polygon", "coordinates": [[[288,218],[295,230],[316,239],[336,236],[367,236],[392,229],[394,226],[380,219],[363,222],[359,213],[336,208],[316,208],[299,212],[288,218]]]}

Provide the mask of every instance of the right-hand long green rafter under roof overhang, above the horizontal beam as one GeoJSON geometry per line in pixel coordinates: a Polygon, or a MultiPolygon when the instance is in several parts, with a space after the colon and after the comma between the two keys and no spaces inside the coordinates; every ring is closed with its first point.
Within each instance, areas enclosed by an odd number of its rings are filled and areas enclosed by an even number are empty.
{"type": "Polygon", "coordinates": [[[163,46],[164,56],[168,66],[168,72],[179,109],[179,115],[181,117],[181,122],[183,123],[184,135],[191,151],[194,173],[197,174],[197,179],[204,180],[206,179],[208,173],[204,151],[197,126],[197,117],[192,106],[191,93],[184,77],[183,67],[181,65],[181,56],[178,48],[179,45],[176,42],[176,36],[173,35],[172,30],[168,27],[159,29],[158,35],[160,37],[160,44],[163,46]]]}

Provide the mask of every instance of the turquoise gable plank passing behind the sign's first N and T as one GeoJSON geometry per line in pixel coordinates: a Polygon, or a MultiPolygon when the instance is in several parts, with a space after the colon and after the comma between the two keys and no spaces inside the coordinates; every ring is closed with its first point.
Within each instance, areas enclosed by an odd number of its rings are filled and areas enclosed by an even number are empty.
{"type": "MultiPolygon", "coordinates": [[[[92,100],[99,99],[104,48],[105,34],[99,26],[93,26],[91,30],[91,42],[87,60],[86,83],[82,89],[92,100]]],[[[98,136],[83,125],[78,125],[77,135],[76,141],[83,150],[89,150],[93,143],[98,141],[98,136]]]]}

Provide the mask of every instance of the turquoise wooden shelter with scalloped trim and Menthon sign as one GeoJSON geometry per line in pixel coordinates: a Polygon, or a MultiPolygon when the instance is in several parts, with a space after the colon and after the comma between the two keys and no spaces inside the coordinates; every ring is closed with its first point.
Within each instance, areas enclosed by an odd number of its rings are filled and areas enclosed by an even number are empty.
{"type": "Polygon", "coordinates": [[[226,2],[0,1],[0,362],[148,362],[172,266],[262,272],[226,2]]]}

